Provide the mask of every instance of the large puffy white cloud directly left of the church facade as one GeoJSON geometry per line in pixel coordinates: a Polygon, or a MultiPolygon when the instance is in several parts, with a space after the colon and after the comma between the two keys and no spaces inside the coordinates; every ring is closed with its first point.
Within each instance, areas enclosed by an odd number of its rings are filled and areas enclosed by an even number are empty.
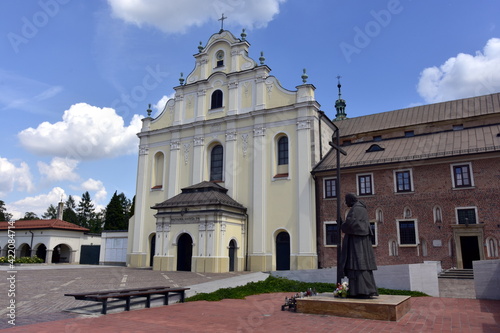
{"type": "Polygon", "coordinates": [[[114,109],[78,103],[64,111],[62,121],[43,122],[21,131],[18,137],[35,154],[92,160],[136,153],[141,125],[138,115],[125,126],[114,109]]]}

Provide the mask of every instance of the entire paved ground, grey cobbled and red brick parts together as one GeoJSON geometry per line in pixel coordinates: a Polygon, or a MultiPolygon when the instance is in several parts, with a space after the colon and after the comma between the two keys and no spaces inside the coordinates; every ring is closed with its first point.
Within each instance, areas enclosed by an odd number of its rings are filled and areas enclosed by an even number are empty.
{"type": "MultiPolygon", "coordinates": [[[[6,332],[500,332],[500,301],[447,297],[412,298],[410,312],[399,322],[281,311],[287,293],[89,316],[63,312],[85,302],[62,295],[122,284],[153,286],[163,280],[167,285],[189,286],[234,275],[103,267],[26,271],[18,276],[17,325],[8,328],[12,326],[2,312],[0,328],[6,332]]],[[[0,288],[5,285],[0,283],[0,288]]],[[[0,300],[1,309],[4,303],[0,300]]]]}

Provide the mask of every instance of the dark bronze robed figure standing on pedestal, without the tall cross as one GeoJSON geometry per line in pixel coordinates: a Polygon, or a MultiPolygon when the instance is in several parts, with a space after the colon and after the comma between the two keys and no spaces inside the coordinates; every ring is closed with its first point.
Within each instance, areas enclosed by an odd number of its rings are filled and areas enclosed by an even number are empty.
{"type": "Polygon", "coordinates": [[[377,269],[377,264],[372,249],[368,211],[365,204],[358,201],[352,193],[345,196],[345,202],[351,209],[341,227],[345,235],[339,269],[349,278],[349,297],[378,296],[373,278],[373,270],[377,269]]]}

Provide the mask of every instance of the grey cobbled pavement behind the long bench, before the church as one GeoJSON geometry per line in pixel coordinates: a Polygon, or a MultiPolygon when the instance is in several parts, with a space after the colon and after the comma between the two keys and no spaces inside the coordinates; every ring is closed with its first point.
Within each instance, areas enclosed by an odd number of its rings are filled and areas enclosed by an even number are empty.
{"type": "MultiPolygon", "coordinates": [[[[8,323],[7,297],[9,281],[5,266],[0,270],[0,329],[12,327],[8,323]]],[[[88,317],[99,313],[96,302],[75,300],[65,293],[89,292],[108,289],[140,288],[153,286],[186,287],[218,279],[225,279],[249,272],[193,273],[160,272],[151,269],[134,269],[113,266],[17,267],[15,273],[16,326],[76,317],[88,317]],[[93,311],[75,313],[68,309],[92,307],[93,311]]],[[[120,309],[123,311],[123,301],[120,309]]],[[[141,303],[144,307],[144,302],[141,303]]],[[[113,312],[111,305],[110,312],[113,312]]]]}

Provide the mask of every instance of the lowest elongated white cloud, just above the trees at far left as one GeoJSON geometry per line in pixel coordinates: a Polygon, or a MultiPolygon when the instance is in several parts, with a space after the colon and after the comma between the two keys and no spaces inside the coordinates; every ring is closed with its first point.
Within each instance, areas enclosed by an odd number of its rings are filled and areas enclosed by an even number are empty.
{"type": "Polygon", "coordinates": [[[26,197],[24,199],[6,204],[7,212],[12,214],[14,220],[18,220],[24,216],[26,212],[34,212],[38,217],[47,211],[50,205],[57,207],[58,202],[66,199],[64,190],[60,187],[54,187],[47,194],[40,194],[34,197],[26,197]]]}

